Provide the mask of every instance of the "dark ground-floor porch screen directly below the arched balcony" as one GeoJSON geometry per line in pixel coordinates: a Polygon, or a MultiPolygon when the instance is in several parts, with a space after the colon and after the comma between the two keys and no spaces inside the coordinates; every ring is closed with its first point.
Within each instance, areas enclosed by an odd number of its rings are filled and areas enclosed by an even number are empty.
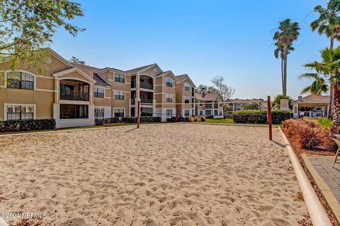
{"type": "Polygon", "coordinates": [[[60,105],[60,119],[88,119],[88,105],[60,105]]]}

